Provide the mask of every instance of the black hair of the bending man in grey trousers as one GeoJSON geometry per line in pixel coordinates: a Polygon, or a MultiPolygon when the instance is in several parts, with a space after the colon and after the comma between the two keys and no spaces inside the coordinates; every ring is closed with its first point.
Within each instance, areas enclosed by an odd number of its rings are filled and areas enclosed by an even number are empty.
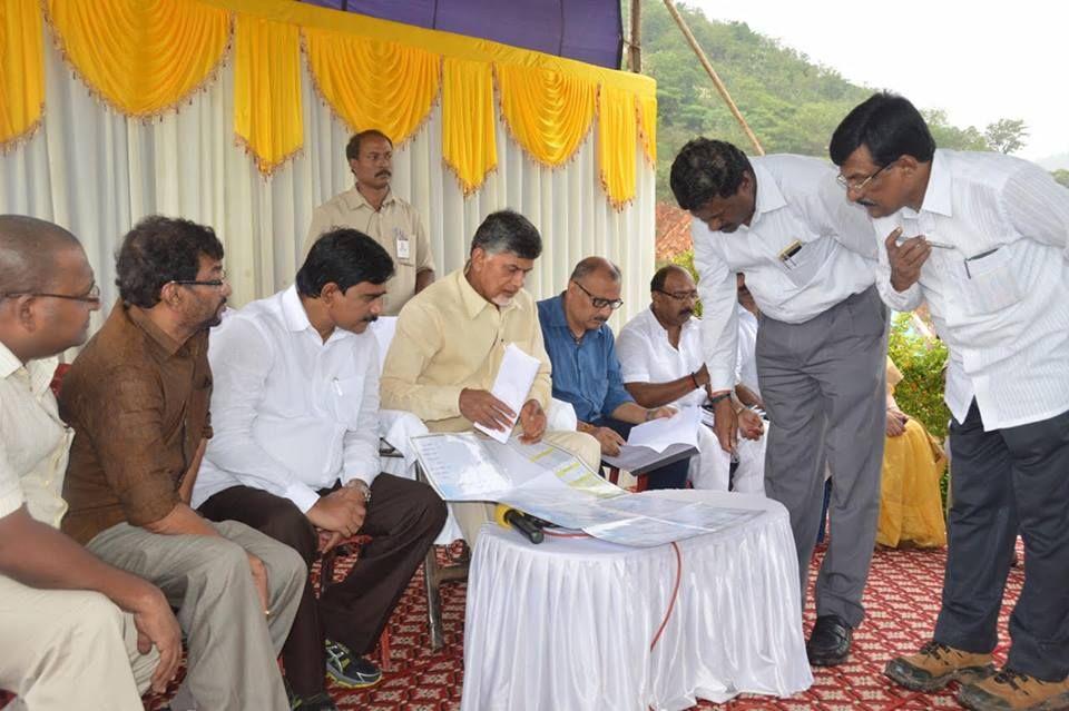
{"type": "Polygon", "coordinates": [[[671,162],[669,182],[679,207],[693,210],[715,197],[738,192],[746,172],[753,175],[754,169],[738,148],[723,140],[695,138],[671,162]]]}

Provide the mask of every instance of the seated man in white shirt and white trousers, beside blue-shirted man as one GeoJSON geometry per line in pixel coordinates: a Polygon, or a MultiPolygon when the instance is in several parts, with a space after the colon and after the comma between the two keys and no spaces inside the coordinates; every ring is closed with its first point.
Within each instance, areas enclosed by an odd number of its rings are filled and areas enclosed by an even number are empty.
{"type": "MultiPolygon", "coordinates": [[[[649,283],[649,308],[629,320],[616,342],[624,387],[643,407],[699,407],[708,399],[709,373],[702,359],[698,298],[690,274],[683,267],[661,267],[649,283]]],[[[738,468],[732,490],[765,492],[765,437],[761,417],[736,404],[739,432],[738,468]]],[[[698,429],[702,454],[690,458],[695,488],[728,490],[732,456],[707,427],[698,429]]]]}

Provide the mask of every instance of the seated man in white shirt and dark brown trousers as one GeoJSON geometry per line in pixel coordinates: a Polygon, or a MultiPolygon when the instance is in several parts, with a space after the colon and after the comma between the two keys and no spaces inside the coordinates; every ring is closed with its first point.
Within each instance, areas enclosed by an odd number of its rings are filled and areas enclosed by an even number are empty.
{"type": "Polygon", "coordinates": [[[361,659],[445,521],[425,484],[380,474],[379,348],[365,333],[393,274],[390,255],[354,229],[325,233],[296,284],[228,315],[212,333],[215,437],[193,504],[296,549],[311,565],[356,533],[372,536],[344,581],[318,600],[308,584],[282,650],[293,708],[333,710],[326,672],[366,687],[361,659]],[[327,537],[327,536],[324,536],[327,537]]]}

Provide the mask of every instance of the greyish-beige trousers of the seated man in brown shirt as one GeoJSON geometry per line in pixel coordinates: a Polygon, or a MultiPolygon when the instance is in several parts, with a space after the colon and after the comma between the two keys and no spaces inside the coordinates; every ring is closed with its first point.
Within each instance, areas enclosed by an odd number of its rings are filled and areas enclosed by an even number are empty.
{"type": "Polygon", "coordinates": [[[212,523],[220,537],[159,535],[126,523],[87,547],[156,584],[187,639],[184,687],[199,709],[287,711],[277,656],[296,614],[307,569],[288,545],[234,521],[212,523]],[[271,615],[248,569],[252,553],[267,569],[271,615]]]}

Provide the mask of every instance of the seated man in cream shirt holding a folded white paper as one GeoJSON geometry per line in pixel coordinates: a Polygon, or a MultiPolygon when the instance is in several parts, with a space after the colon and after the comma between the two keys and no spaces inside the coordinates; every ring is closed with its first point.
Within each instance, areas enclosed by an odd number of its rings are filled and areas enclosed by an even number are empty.
{"type": "MultiPolygon", "coordinates": [[[[381,405],[422,419],[431,432],[462,432],[472,422],[494,425],[500,401],[489,391],[504,349],[514,344],[541,362],[517,426],[568,450],[597,471],[600,446],[578,432],[546,432],[549,356],[534,299],[523,279],[541,254],[538,230],[521,215],[490,215],[475,231],[468,265],[435,282],[405,305],[381,378],[381,405]]],[[[489,506],[454,504],[464,539],[474,543],[489,506]]]]}

